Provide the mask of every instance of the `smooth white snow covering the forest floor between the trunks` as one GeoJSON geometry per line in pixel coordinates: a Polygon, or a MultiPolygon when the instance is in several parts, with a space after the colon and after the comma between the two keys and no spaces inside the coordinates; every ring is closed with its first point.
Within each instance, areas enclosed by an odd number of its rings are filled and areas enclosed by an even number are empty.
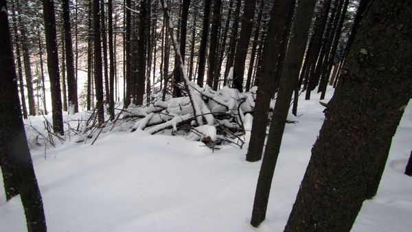
{"type": "MultiPolygon", "coordinates": [[[[91,141],[71,141],[46,152],[32,150],[47,228],[283,231],[324,118],[319,95],[312,99],[301,99],[299,123],[286,125],[266,220],[258,229],[249,221],[261,163],[244,161],[247,144],[212,152],[201,142],[139,130],[102,134],[93,146],[91,141]]],[[[42,118],[31,120],[41,124],[42,118]]],[[[378,195],[365,201],[352,231],[411,231],[412,177],[402,174],[411,141],[410,102],[393,138],[378,195]]],[[[5,202],[2,187],[0,231],[26,231],[20,198],[5,202]]]]}

